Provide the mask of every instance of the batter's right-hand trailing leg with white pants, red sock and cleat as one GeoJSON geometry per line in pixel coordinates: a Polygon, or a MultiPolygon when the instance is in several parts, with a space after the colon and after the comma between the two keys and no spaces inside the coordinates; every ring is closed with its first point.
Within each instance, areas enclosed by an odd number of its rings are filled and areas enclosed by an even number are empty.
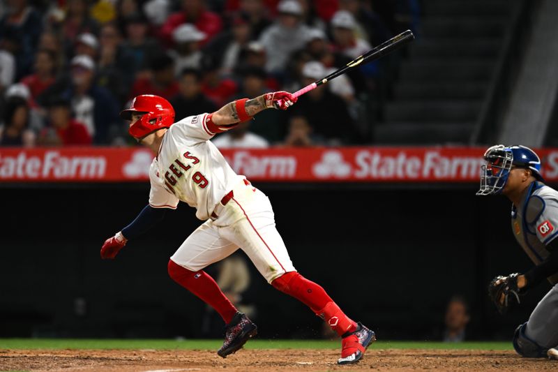
{"type": "Polygon", "coordinates": [[[224,228],[221,235],[240,246],[274,288],[299,299],[342,336],[339,364],[358,362],[375,340],[374,332],[347,317],[324,288],[296,272],[276,229],[268,198],[257,191],[241,194],[229,204],[227,208],[237,209],[244,218],[224,228]]]}

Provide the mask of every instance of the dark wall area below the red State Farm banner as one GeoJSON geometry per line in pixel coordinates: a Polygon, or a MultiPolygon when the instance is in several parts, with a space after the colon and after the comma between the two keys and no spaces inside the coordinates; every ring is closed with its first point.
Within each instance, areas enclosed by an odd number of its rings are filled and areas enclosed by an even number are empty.
{"type": "MultiPolygon", "coordinates": [[[[296,269],[383,339],[435,339],[455,294],[471,305],[469,338],[510,338],[550,288],[505,318],[493,309],[490,278],[530,262],[511,233],[510,203],[476,197],[476,185],[257,186],[296,269]]],[[[100,260],[103,241],[146,204],[147,187],[3,185],[0,337],[219,336],[216,315],[167,276],[169,256],[200,223],[186,204],[116,260],[100,260]]],[[[319,318],[250,269],[260,336],[320,336],[319,318]]]]}

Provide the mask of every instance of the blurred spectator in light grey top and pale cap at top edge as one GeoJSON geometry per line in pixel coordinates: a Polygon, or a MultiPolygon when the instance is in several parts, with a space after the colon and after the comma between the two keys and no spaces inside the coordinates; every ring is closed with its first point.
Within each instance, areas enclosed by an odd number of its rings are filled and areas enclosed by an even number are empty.
{"type": "Polygon", "coordinates": [[[306,44],[310,29],[303,24],[303,10],[296,0],[282,0],[278,7],[278,20],[264,30],[259,42],[267,52],[266,70],[281,73],[287,66],[289,55],[306,44]]]}

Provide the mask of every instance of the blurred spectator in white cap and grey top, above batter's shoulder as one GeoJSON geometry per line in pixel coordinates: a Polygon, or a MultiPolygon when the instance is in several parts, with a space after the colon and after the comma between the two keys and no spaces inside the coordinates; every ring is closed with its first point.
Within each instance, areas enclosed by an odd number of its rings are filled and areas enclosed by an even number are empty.
{"type": "Polygon", "coordinates": [[[202,65],[202,51],[199,43],[204,40],[205,34],[193,24],[181,24],[172,31],[174,50],[169,55],[174,59],[174,74],[180,75],[184,68],[200,68],[202,65]]]}

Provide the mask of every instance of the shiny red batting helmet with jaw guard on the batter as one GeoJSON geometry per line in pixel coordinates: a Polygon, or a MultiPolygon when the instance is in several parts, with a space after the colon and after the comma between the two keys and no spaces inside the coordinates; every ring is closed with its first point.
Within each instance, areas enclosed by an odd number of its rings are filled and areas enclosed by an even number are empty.
{"type": "Polygon", "coordinates": [[[128,132],[132,137],[143,138],[162,128],[169,128],[174,123],[174,108],[160,96],[143,94],[133,99],[128,110],[123,110],[120,117],[132,120],[132,114],[143,114],[142,118],[133,122],[128,132]]]}

